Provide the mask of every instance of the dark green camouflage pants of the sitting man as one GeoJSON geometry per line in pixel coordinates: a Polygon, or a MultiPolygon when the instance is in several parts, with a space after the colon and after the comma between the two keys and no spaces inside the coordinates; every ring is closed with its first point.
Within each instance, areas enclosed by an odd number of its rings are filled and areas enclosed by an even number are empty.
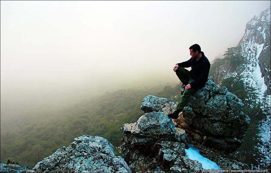
{"type": "MultiPolygon", "coordinates": [[[[192,83],[194,81],[194,79],[192,79],[190,77],[190,72],[188,70],[186,70],[183,67],[179,67],[176,70],[176,75],[178,76],[178,78],[180,79],[180,81],[182,82],[182,86],[184,85],[188,85],[190,83],[192,83]]],[[[198,91],[198,88],[190,88],[188,90],[185,90],[183,92],[181,92],[181,97],[182,100],[179,102],[179,104],[177,105],[177,110],[179,110],[180,112],[183,110],[183,108],[185,107],[190,95],[192,95],[193,93],[195,93],[196,91],[198,91]]]]}

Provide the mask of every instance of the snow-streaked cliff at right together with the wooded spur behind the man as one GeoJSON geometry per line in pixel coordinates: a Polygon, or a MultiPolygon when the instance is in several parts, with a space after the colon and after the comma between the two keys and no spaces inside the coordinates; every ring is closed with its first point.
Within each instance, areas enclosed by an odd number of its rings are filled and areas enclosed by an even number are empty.
{"type": "Polygon", "coordinates": [[[260,95],[265,90],[270,95],[270,7],[246,24],[245,34],[235,49],[242,62],[235,66],[226,60],[211,76],[216,84],[240,76],[260,95]]]}

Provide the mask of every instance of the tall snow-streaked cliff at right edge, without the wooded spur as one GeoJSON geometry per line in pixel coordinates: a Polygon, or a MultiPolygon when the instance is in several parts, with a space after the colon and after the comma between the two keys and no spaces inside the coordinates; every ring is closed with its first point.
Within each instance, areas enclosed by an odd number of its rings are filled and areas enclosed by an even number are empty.
{"type": "Polygon", "coordinates": [[[241,55],[245,58],[245,72],[251,86],[263,92],[267,86],[270,94],[270,7],[247,23],[245,35],[239,42],[241,55]],[[264,77],[262,79],[261,77],[264,77]],[[265,84],[265,85],[264,85],[265,84]]]}

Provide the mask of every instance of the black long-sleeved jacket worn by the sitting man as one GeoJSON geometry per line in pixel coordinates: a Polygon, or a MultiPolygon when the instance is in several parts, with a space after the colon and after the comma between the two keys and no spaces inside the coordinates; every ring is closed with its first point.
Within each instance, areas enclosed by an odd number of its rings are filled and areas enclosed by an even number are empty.
{"type": "Polygon", "coordinates": [[[194,79],[194,82],[190,84],[191,88],[202,88],[208,80],[210,62],[203,52],[201,54],[201,58],[198,61],[196,58],[191,57],[188,61],[178,63],[179,67],[191,67],[190,77],[194,79]]]}

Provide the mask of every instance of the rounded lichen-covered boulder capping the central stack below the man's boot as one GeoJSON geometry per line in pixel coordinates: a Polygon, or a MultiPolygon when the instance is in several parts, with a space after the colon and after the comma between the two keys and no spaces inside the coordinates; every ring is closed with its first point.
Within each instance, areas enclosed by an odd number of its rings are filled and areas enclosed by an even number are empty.
{"type": "Polygon", "coordinates": [[[145,113],[137,122],[123,124],[121,134],[133,148],[152,145],[162,139],[174,139],[186,144],[185,131],[176,128],[163,112],[145,113]]]}

